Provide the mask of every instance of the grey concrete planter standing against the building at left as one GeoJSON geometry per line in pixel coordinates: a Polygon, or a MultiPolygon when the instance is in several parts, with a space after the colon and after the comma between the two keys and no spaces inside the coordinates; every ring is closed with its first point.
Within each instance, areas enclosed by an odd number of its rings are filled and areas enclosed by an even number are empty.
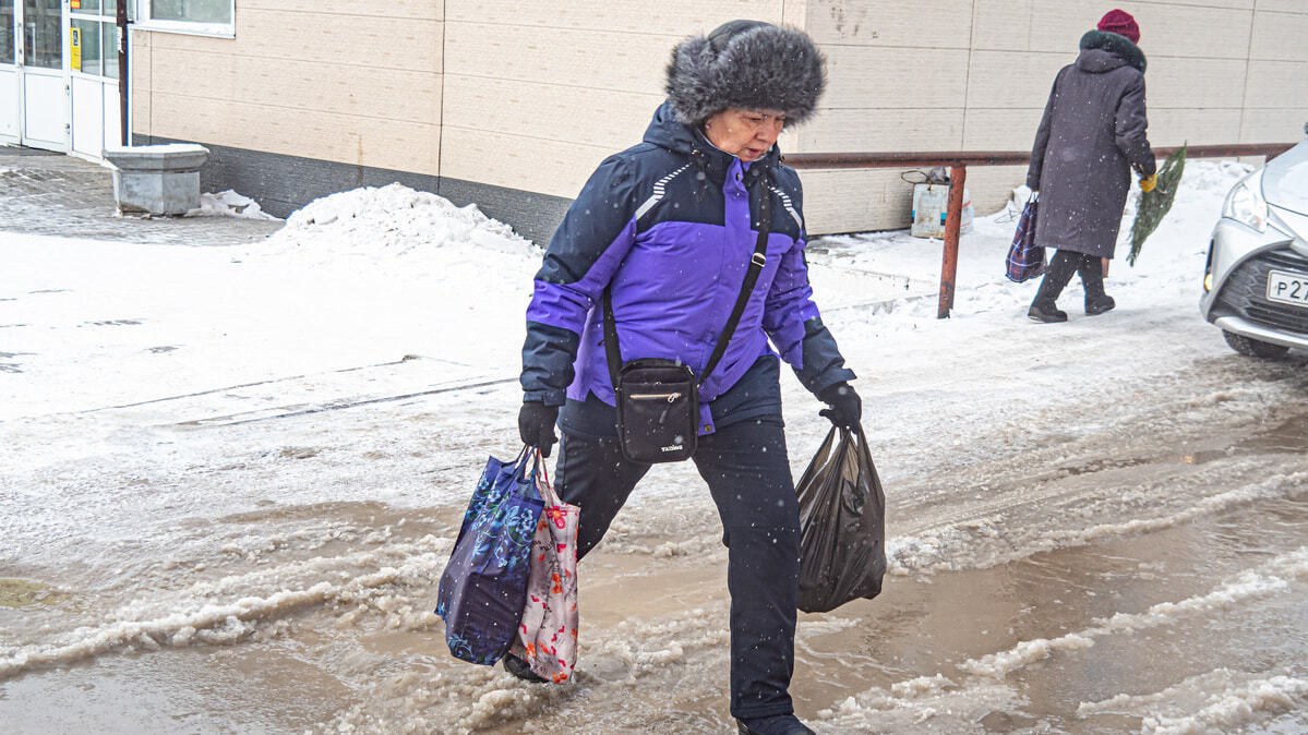
{"type": "Polygon", "coordinates": [[[105,149],[114,201],[124,214],[186,214],[200,207],[200,167],[209,149],[190,143],[105,149]]]}

